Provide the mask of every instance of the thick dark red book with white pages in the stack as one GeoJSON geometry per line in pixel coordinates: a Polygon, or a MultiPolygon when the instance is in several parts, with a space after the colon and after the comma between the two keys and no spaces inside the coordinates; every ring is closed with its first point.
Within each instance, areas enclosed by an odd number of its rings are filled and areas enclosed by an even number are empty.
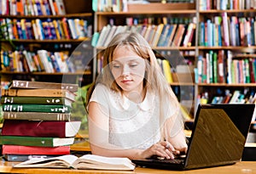
{"type": "Polygon", "coordinates": [[[80,124],[80,121],[5,120],[2,135],[67,138],[74,137],[79,132],[80,124]]]}

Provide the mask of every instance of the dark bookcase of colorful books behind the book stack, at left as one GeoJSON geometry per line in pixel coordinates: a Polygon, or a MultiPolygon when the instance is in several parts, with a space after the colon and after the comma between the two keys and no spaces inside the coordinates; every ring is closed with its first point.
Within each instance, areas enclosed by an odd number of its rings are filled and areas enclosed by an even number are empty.
{"type": "MultiPolygon", "coordinates": [[[[92,58],[92,48],[90,47],[94,23],[92,1],[63,0],[66,13],[61,13],[60,9],[58,11],[56,8],[53,10],[49,0],[35,2],[41,2],[39,5],[37,4],[38,14],[35,14],[37,9],[34,6],[25,8],[29,4],[22,4],[24,8],[21,12],[19,8],[16,11],[14,8],[7,8],[5,13],[2,11],[4,14],[0,18],[1,25],[8,27],[1,28],[3,33],[1,37],[1,82],[16,79],[63,81],[81,83],[81,86],[89,84],[92,81],[91,63],[87,61],[92,58]],[[49,5],[48,13],[44,12],[47,4],[49,5]],[[39,14],[39,7],[41,14],[39,14]],[[25,28],[21,27],[20,35],[19,25],[25,26],[25,28]],[[40,31],[40,27],[42,31],[40,31]],[[50,59],[51,65],[37,63],[35,59],[41,59],[38,50],[44,50],[44,56],[48,55],[46,57],[50,59]],[[32,57],[32,63],[27,64],[28,68],[23,65],[28,61],[24,51],[32,57]],[[26,60],[21,62],[20,59],[26,60]],[[84,59],[86,59],[85,62],[84,59]],[[15,64],[22,65],[19,68],[15,64]],[[36,67],[30,69],[29,65],[34,64],[36,67]],[[41,68],[38,68],[37,64],[41,68]],[[49,69],[49,67],[52,68],[49,69]]],[[[55,1],[52,2],[55,3],[55,1]]],[[[16,3],[16,7],[18,7],[18,1],[16,3]]]]}

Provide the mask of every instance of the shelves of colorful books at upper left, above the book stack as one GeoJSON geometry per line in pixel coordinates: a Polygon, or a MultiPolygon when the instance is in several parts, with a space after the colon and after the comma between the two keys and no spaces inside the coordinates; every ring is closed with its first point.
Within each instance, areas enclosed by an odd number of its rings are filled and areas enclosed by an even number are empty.
{"type": "MultiPolygon", "coordinates": [[[[3,9],[0,10],[0,25],[2,25],[2,35],[0,37],[1,62],[3,63],[1,66],[2,81],[3,79],[8,80],[8,78],[4,76],[9,77],[9,81],[13,80],[12,77],[20,78],[20,75],[26,76],[26,78],[21,77],[26,80],[37,76],[36,79],[40,81],[39,76],[53,75],[86,76],[85,78],[90,79],[89,82],[91,82],[90,76],[92,73],[89,68],[91,65],[84,65],[84,70],[73,70],[71,69],[71,65],[68,65],[71,61],[67,62],[69,57],[75,57],[73,52],[82,42],[84,45],[87,45],[88,49],[86,50],[86,54],[88,56],[92,55],[90,37],[94,21],[91,0],[86,2],[84,0],[74,0],[73,3],[68,0],[58,2],[47,0],[44,1],[44,3],[38,3],[38,1],[21,3],[21,1],[19,1],[14,3],[14,6],[6,6],[7,8],[4,8],[4,3],[5,2],[3,2],[3,7],[1,6],[3,9]],[[16,8],[15,5],[17,5],[16,8]],[[9,43],[14,47],[6,47],[6,45],[10,45],[9,43]],[[52,61],[51,63],[54,66],[54,70],[49,70],[48,68],[52,65],[44,65],[44,67],[42,67],[41,64],[41,67],[39,67],[38,64],[40,63],[37,63],[35,57],[39,59],[38,51],[41,50],[43,50],[45,54],[50,55],[49,58],[52,61]],[[59,64],[60,61],[57,60],[59,59],[57,58],[57,54],[59,53],[61,53],[61,65],[59,64]],[[14,54],[16,57],[13,57],[14,54]],[[33,63],[27,63],[29,70],[25,65],[28,59],[23,60],[23,57],[26,57],[26,55],[32,56],[33,63]],[[55,58],[53,58],[53,56],[55,58]],[[21,57],[23,68],[17,69],[16,65],[12,67],[13,63],[8,63],[10,60],[16,61],[15,59],[20,59],[21,57]],[[30,65],[32,64],[36,64],[38,68],[31,69],[30,65]],[[68,70],[64,70],[64,64],[69,66],[68,70]]],[[[77,52],[79,52],[79,50],[77,50],[77,52]]],[[[81,59],[80,55],[78,57],[81,59]]],[[[74,59],[78,61],[78,59],[74,59]]],[[[92,57],[90,59],[92,59],[92,57]]],[[[79,60],[80,68],[81,65],[83,65],[82,61],[82,59],[79,60]]],[[[47,78],[43,79],[47,80],[47,78]]],[[[61,82],[61,78],[56,78],[55,80],[61,82]]],[[[88,82],[88,80],[86,81],[88,82]]]]}

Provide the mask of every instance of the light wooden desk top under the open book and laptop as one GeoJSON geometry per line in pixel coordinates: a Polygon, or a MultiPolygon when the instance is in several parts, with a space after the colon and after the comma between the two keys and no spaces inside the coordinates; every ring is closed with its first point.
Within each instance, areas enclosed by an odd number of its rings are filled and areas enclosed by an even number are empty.
{"type": "Polygon", "coordinates": [[[71,169],[36,169],[36,168],[26,168],[26,169],[19,169],[13,168],[12,166],[16,164],[15,162],[6,162],[2,161],[0,164],[0,173],[49,173],[49,174],[67,174],[67,173],[182,173],[182,174],[208,174],[208,173],[232,173],[232,174],[252,174],[256,173],[256,162],[255,161],[241,161],[236,163],[236,165],[231,166],[218,166],[206,169],[197,169],[197,170],[190,170],[190,171],[165,171],[165,170],[157,170],[157,169],[148,169],[148,168],[139,168],[137,167],[135,171],[97,171],[97,170],[71,170],[71,169]]]}

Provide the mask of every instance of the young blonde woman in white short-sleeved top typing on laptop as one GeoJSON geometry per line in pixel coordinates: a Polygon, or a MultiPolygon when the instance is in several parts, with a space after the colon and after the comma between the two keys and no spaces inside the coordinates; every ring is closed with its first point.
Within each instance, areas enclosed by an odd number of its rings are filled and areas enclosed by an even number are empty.
{"type": "Polygon", "coordinates": [[[173,159],[186,152],[177,98],[140,34],[114,36],[88,101],[92,154],[173,159]]]}

